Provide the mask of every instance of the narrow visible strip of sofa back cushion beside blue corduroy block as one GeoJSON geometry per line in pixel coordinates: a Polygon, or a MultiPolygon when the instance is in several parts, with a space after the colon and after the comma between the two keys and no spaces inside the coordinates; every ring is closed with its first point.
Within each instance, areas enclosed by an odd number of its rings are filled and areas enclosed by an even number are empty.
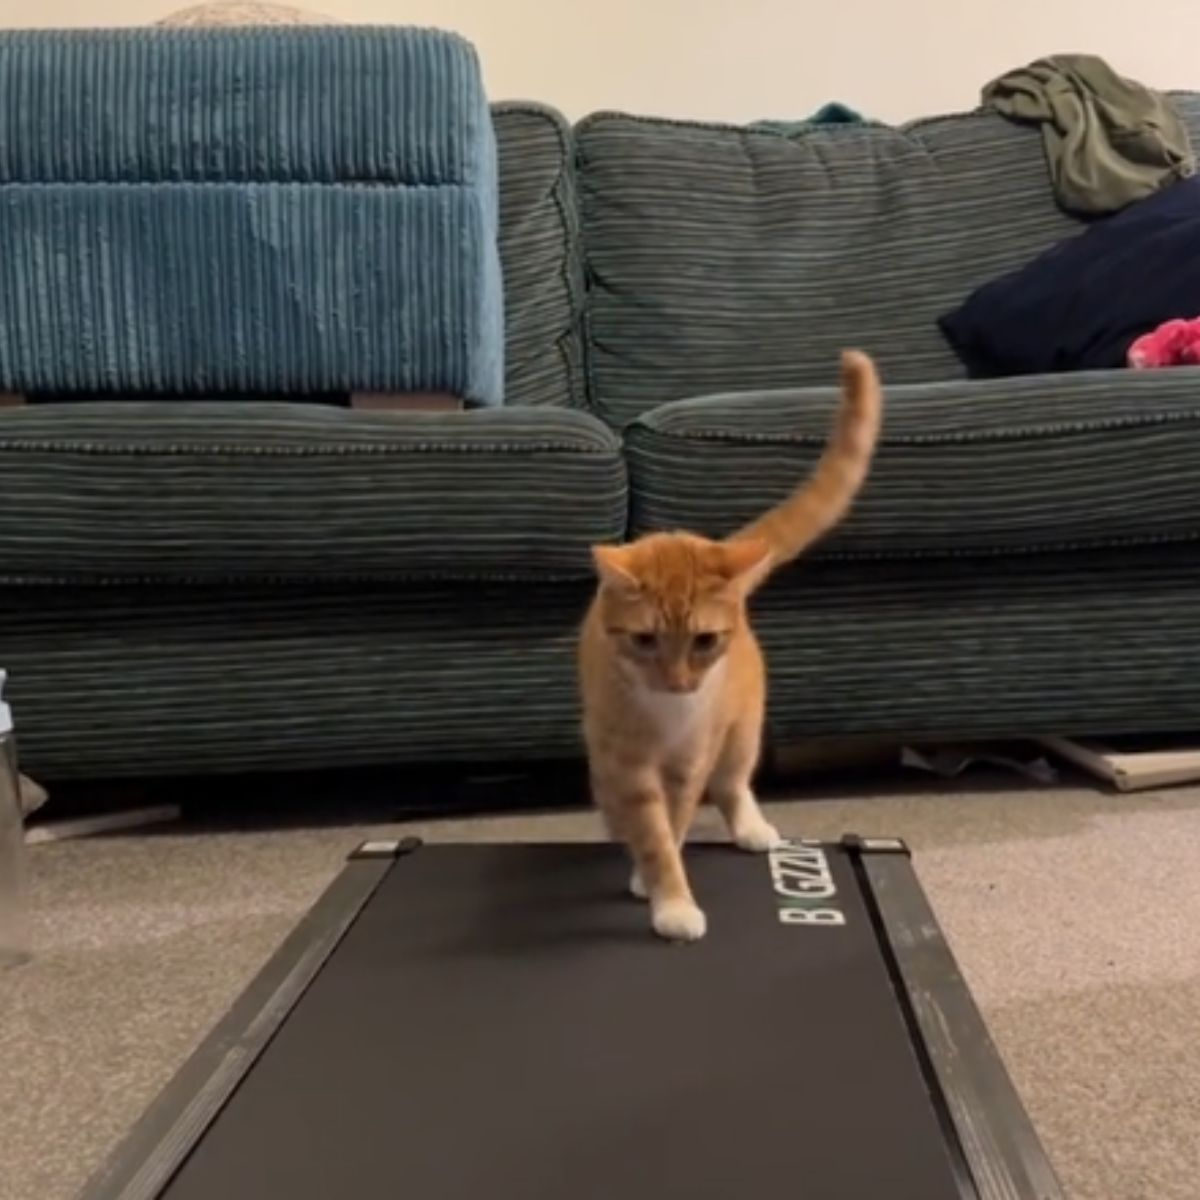
{"type": "Polygon", "coordinates": [[[587,407],[575,142],[551,108],[492,106],[499,150],[504,402],[587,407]]]}

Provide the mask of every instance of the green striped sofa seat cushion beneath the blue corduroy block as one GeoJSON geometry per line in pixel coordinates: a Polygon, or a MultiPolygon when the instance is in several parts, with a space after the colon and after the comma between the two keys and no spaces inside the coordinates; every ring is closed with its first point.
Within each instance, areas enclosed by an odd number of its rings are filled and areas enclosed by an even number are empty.
{"type": "Polygon", "coordinates": [[[571,409],[0,410],[0,582],[588,576],[625,515],[619,439],[571,409]]]}

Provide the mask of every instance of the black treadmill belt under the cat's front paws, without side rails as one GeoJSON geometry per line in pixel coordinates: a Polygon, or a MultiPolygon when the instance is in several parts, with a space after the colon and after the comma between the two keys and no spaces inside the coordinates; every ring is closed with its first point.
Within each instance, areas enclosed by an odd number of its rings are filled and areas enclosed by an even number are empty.
{"type": "Polygon", "coordinates": [[[667,946],[607,846],[401,858],[170,1200],[961,1200],[853,870],[784,924],[768,863],[689,847],[667,946]]]}

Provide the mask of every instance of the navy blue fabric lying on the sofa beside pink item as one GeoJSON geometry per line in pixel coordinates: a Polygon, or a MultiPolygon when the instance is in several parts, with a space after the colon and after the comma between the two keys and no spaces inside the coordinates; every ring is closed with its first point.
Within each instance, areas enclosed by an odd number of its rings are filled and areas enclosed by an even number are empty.
{"type": "Polygon", "coordinates": [[[1164,320],[1200,314],[1200,178],[1090,224],[940,318],[973,378],[1124,366],[1164,320]]]}

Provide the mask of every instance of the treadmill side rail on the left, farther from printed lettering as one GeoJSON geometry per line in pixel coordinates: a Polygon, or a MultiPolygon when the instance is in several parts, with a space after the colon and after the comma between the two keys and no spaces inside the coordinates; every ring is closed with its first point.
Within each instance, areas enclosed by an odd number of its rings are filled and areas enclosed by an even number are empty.
{"type": "Polygon", "coordinates": [[[157,1200],[395,865],[413,847],[352,856],[229,1012],[91,1176],[78,1200],[157,1200]]]}

